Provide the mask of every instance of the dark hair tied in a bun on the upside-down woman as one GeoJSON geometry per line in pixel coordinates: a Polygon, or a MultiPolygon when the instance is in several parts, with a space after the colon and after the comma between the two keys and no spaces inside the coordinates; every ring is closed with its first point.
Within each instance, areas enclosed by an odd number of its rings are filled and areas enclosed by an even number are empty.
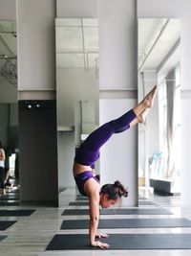
{"type": "Polygon", "coordinates": [[[128,196],[128,190],[118,180],[114,184],[103,185],[100,193],[107,194],[108,198],[113,200],[121,197],[127,198],[128,196]]]}

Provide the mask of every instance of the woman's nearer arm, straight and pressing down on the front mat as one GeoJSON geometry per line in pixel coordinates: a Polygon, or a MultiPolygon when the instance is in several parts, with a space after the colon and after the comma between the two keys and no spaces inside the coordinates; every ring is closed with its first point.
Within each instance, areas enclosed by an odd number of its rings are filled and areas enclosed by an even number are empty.
{"type": "Polygon", "coordinates": [[[89,222],[89,237],[90,244],[92,246],[100,248],[108,248],[109,244],[101,243],[96,241],[96,231],[99,221],[99,185],[95,180],[88,180],[86,184],[86,191],[89,196],[89,211],[90,211],[90,222],[89,222]]]}

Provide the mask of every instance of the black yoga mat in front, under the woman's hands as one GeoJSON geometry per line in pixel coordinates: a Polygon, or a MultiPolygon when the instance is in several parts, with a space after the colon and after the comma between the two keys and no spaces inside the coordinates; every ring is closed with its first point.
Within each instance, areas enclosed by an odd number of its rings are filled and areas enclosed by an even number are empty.
{"type": "MultiPolygon", "coordinates": [[[[109,249],[191,249],[191,234],[111,234],[103,243],[109,249]]],[[[89,244],[88,235],[55,235],[46,250],[99,249],[89,244]]]]}

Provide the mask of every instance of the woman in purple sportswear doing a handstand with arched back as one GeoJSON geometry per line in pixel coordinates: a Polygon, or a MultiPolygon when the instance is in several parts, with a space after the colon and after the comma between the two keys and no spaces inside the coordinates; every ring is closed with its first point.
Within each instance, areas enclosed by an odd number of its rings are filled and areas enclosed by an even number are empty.
{"type": "Polygon", "coordinates": [[[73,169],[75,183],[80,194],[89,198],[89,238],[92,246],[109,247],[109,244],[104,244],[97,240],[97,238],[107,237],[107,234],[96,233],[99,220],[99,205],[102,208],[108,208],[117,203],[119,198],[128,196],[128,191],[119,181],[100,187],[93,172],[95,162],[99,157],[99,149],[114,133],[122,132],[138,123],[143,123],[148,110],[154,103],[156,94],[157,85],[133,109],[93,131],[75,154],[73,169]]]}

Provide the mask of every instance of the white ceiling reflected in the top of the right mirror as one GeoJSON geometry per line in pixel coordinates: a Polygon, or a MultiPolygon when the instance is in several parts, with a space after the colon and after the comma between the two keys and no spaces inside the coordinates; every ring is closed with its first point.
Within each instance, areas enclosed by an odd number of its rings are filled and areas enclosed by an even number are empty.
{"type": "MultiPolygon", "coordinates": [[[[138,70],[157,70],[177,54],[180,60],[180,19],[138,19],[138,70]]],[[[175,61],[175,60],[174,60],[175,61]]]]}

